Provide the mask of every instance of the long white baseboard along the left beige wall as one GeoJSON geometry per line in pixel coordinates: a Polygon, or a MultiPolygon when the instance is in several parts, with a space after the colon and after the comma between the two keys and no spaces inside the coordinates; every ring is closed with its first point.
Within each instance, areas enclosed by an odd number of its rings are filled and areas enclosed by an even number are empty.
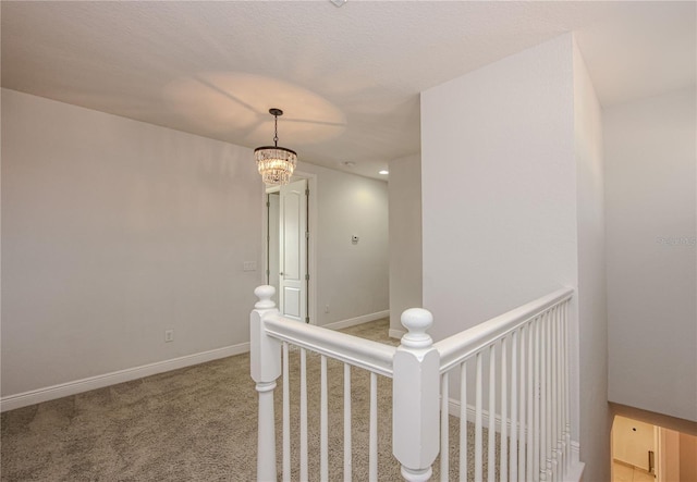
{"type": "Polygon", "coordinates": [[[208,351],[203,351],[184,357],[172,358],[171,360],[157,361],[155,363],[143,364],[140,367],[119,370],[101,375],[89,376],[87,379],[75,380],[72,382],[60,383],[58,385],[37,388],[30,392],[24,392],[16,395],[9,395],[0,399],[0,411],[13,410],[15,408],[26,407],[28,405],[40,404],[41,401],[53,400],[70,395],[75,395],[90,390],[103,388],[105,386],[115,385],[117,383],[130,382],[132,380],[163,373],[180,368],[191,367],[206,361],[217,360],[219,358],[232,357],[249,351],[249,343],[241,343],[239,345],[225,346],[208,351]]]}

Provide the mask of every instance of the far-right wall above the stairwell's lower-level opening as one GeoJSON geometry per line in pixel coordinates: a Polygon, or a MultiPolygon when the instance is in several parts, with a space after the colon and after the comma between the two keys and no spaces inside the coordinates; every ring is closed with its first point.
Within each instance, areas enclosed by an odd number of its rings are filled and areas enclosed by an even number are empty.
{"type": "Polygon", "coordinates": [[[603,112],[609,399],[697,420],[695,89],[603,112]]]}

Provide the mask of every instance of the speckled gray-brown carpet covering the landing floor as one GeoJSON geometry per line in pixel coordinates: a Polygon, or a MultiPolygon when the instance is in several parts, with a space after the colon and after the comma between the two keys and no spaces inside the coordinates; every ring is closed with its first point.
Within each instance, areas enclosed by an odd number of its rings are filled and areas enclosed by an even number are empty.
{"type": "MultiPolygon", "coordinates": [[[[395,345],[388,320],[345,332],[395,345]]],[[[291,386],[298,392],[297,351],[291,386]]],[[[310,480],[319,467],[319,356],[308,356],[310,480]]],[[[330,480],[343,478],[343,368],[329,362],[330,480]],[[337,447],[337,449],[332,449],[337,447]]],[[[391,384],[380,376],[379,479],[398,481],[391,455],[391,384]]],[[[369,374],[352,370],[354,480],[367,480],[369,374]]],[[[297,397],[295,397],[295,401],[297,397]]],[[[281,388],[276,392],[280,455],[281,388]]],[[[297,408],[291,407],[293,424],[297,408]]],[[[457,437],[451,418],[451,437],[457,437]]],[[[240,355],[2,413],[2,481],[250,481],[256,479],[257,394],[240,355]]],[[[472,430],[469,431],[472,433],[472,430]]],[[[451,438],[452,440],[452,438],[451,438]]],[[[485,433],[486,440],[486,433],[485,433]]],[[[293,440],[293,480],[297,480],[293,440]]],[[[470,450],[472,450],[472,444],[470,450]]],[[[486,457],[486,454],[485,454],[486,457]]],[[[280,458],[280,457],[279,457],[280,458]]],[[[456,448],[450,479],[456,480],[456,448]]],[[[438,480],[438,460],[433,466],[438,480]]],[[[469,479],[473,480],[472,468],[469,479]]],[[[279,464],[279,477],[281,468],[279,464]]]]}

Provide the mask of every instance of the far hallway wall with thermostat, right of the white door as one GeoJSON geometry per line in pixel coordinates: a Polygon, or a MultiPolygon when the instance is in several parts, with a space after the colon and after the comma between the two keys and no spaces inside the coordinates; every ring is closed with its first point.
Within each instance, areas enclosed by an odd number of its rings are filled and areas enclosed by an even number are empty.
{"type": "Polygon", "coordinates": [[[302,162],[297,170],[317,175],[318,226],[309,227],[317,246],[317,324],[387,316],[387,183],[302,162]]]}

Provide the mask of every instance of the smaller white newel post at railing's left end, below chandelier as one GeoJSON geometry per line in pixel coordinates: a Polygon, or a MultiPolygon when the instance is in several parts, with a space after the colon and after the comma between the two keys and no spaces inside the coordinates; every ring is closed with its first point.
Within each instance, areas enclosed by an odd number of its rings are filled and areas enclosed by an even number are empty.
{"type": "Polygon", "coordinates": [[[273,417],[273,388],[281,375],[281,345],[268,336],[264,314],[276,309],[271,297],[273,286],[259,286],[254,294],[259,300],[249,316],[249,357],[252,379],[259,393],[259,424],[257,442],[257,480],[276,481],[276,419],[273,417]]]}

